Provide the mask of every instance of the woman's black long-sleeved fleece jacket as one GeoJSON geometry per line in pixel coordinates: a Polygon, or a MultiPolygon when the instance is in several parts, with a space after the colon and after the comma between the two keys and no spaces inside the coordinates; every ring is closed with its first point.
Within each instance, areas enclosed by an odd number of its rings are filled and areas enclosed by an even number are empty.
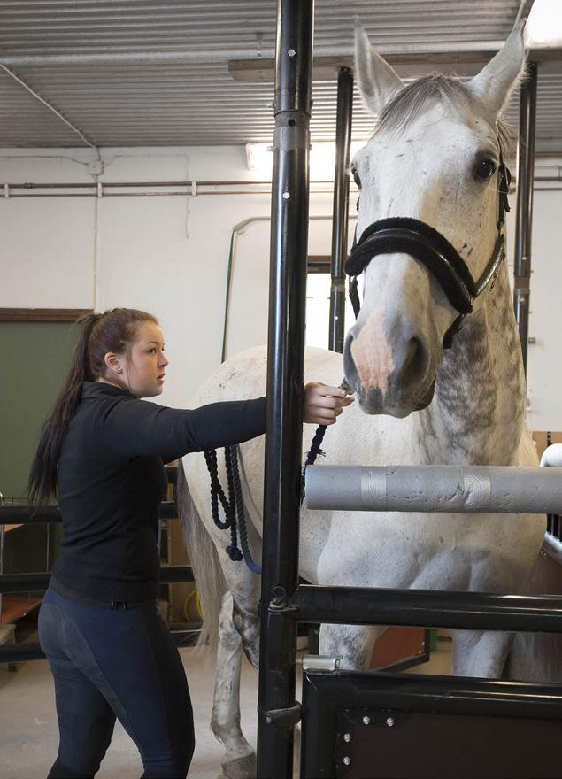
{"type": "Polygon", "coordinates": [[[58,459],[64,539],[51,585],[103,604],[156,598],[164,463],[265,432],[265,397],[181,411],[85,382],[58,459]]]}

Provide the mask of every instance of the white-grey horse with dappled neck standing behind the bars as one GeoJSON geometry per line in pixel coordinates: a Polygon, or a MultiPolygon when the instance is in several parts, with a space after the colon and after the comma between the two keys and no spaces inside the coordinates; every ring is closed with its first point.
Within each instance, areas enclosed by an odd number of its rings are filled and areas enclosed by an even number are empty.
{"type": "MultiPolygon", "coordinates": [[[[376,220],[420,220],[448,239],[474,279],[481,276],[497,243],[498,167],[509,154],[500,114],[523,66],[519,25],[471,81],[432,76],[404,87],[358,27],[358,83],[379,117],[351,166],[361,187],[358,237],[376,220]]],[[[457,317],[435,275],[411,255],[394,251],[368,262],[363,305],[344,354],[358,403],[328,428],[328,463],[538,464],[524,421],[525,377],[504,263],[452,348],[443,351],[457,317]]],[[[307,381],[337,385],[342,355],[307,350],[306,374],[307,381]]],[[[266,351],[257,348],[228,359],[193,403],[257,397],[265,390],[266,351]]],[[[313,433],[305,426],[304,451],[313,433]]],[[[250,544],[259,559],[263,436],[244,443],[240,453],[250,544]]],[[[227,558],[228,540],[212,522],[203,456],[189,455],[183,466],[196,510],[184,517],[189,553],[207,627],[217,621],[219,627],[212,729],[226,747],[225,774],[240,779],[255,775],[240,729],[238,693],[242,650],[258,666],[259,580],[227,558]]],[[[304,508],[300,573],[324,585],[516,593],[544,532],[542,516],[304,508]]],[[[320,653],[342,657],[343,667],[366,667],[382,630],[325,625],[320,653]]],[[[499,677],[511,640],[504,633],[455,630],[453,673],[499,677]]]]}

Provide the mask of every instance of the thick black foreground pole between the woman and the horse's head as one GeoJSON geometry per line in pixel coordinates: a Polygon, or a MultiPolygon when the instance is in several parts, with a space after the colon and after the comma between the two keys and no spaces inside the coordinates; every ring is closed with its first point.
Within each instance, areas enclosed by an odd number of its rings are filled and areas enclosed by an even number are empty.
{"type": "Polygon", "coordinates": [[[298,583],[313,0],[278,0],[261,589],[258,777],[289,779],[298,583]]]}

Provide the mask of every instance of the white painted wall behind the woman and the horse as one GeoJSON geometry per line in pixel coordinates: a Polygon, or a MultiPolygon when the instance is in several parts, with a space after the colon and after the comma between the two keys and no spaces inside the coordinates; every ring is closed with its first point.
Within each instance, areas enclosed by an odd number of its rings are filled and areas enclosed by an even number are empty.
{"type": "MultiPolygon", "coordinates": [[[[101,181],[251,181],[242,147],[103,150],[101,181]]],[[[0,150],[0,184],[88,182],[90,150],[0,150]]],[[[171,366],[162,401],[186,405],[219,363],[230,236],[269,216],[264,195],[30,197],[0,204],[0,307],[142,308],[161,320],[171,366]]],[[[354,212],[353,209],[351,209],[354,212]]],[[[309,252],[328,254],[332,199],[313,195],[309,252]]],[[[529,422],[562,430],[555,313],[562,299],[562,190],[535,192],[529,422]]],[[[509,218],[510,244],[514,212],[509,218]]],[[[352,233],[352,227],[350,228],[352,233]]],[[[227,353],[266,342],[269,222],[238,235],[227,353]]],[[[327,338],[327,289],[310,285],[309,343],[327,338]]],[[[321,377],[319,377],[321,379],[321,377]]]]}

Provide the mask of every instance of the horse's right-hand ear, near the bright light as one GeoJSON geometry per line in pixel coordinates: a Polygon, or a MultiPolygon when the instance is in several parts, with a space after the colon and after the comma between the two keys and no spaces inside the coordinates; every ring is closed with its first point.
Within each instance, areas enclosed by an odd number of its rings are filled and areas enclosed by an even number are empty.
{"type": "Polygon", "coordinates": [[[473,95],[481,100],[490,115],[493,114],[494,120],[507,103],[525,68],[525,23],[526,19],[521,19],[513,27],[502,49],[467,83],[473,95]]]}

